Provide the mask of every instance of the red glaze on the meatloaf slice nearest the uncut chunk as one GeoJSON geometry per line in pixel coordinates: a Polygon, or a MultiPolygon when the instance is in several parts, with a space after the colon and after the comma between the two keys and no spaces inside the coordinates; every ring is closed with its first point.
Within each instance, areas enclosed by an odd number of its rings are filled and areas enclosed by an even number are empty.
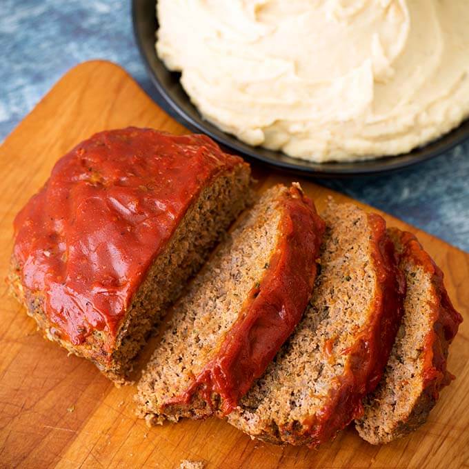
{"type": "Polygon", "coordinates": [[[325,224],[297,188],[283,199],[281,239],[257,288],[250,292],[221,347],[183,395],[166,403],[187,404],[196,392],[212,406],[221,397],[228,415],[261,376],[295,328],[311,296],[325,224]]]}

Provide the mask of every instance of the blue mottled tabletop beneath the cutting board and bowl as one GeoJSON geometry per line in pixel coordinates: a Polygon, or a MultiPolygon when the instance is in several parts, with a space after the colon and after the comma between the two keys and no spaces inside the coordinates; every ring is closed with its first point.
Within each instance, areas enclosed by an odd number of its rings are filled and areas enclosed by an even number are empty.
{"type": "MultiPolygon", "coordinates": [[[[125,0],[1,0],[0,50],[0,140],[69,68],[89,59],[119,63],[154,96],[125,0]]],[[[469,142],[384,177],[321,183],[469,251],[469,142]]]]}

